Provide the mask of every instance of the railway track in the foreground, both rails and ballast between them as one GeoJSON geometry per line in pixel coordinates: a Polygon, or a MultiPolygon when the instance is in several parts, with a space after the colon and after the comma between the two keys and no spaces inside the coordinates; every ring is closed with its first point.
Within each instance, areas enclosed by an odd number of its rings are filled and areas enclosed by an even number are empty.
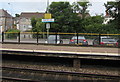
{"type": "MultiPolygon", "coordinates": [[[[41,70],[41,69],[30,69],[30,68],[18,68],[18,67],[2,67],[3,69],[3,73],[5,73],[4,71],[16,71],[18,72],[25,72],[26,73],[39,73],[42,74],[41,76],[44,78],[51,78],[48,77],[47,74],[51,74],[54,75],[54,79],[53,80],[59,80],[59,77],[61,77],[60,75],[64,75],[66,76],[66,79],[64,78],[64,80],[75,80],[75,77],[82,77],[82,78],[86,78],[87,80],[90,80],[88,78],[94,78],[94,79],[102,79],[102,80],[118,80],[120,81],[120,76],[115,76],[115,75],[102,75],[102,74],[88,74],[88,73],[79,73],[79,72],[68,72],[68,71],[54,71],[54,70],[41,70]],[[46,75],[46,76],[45,76],[46,75]],[[57,79],[55,79],[57,77],[57,79]],[[74,78],[73,78],[74,77],[74,78]]],[[[7,72],[8,73],[8,72],[7,72]]],[[[29,74],[28,74],[29,75],[29,74]]],[[[19,75],[22,76],[22,75],[19,75]]],[[[41,77],[40,76],[40,77],[41,77]]],[[[38,77],[38,76],[37,76],[38,77]]],[[[37,82],[40,81],[41,79],[30,79],[30,78],[22,78],[22,77],[11,77],[11,76],[5,76],[5,74],[3,74],[2,79],[5,80],[23,80],[23,81],[30,81],[30,82],[37,82]]],[[[43,80],[43,78],[42,78],[43,80]]],[[[47,79],[47,80],[51,80],[51,79],[47,79]]],[[[76,79],[78,80],[78,79],[76,79]]]]}

